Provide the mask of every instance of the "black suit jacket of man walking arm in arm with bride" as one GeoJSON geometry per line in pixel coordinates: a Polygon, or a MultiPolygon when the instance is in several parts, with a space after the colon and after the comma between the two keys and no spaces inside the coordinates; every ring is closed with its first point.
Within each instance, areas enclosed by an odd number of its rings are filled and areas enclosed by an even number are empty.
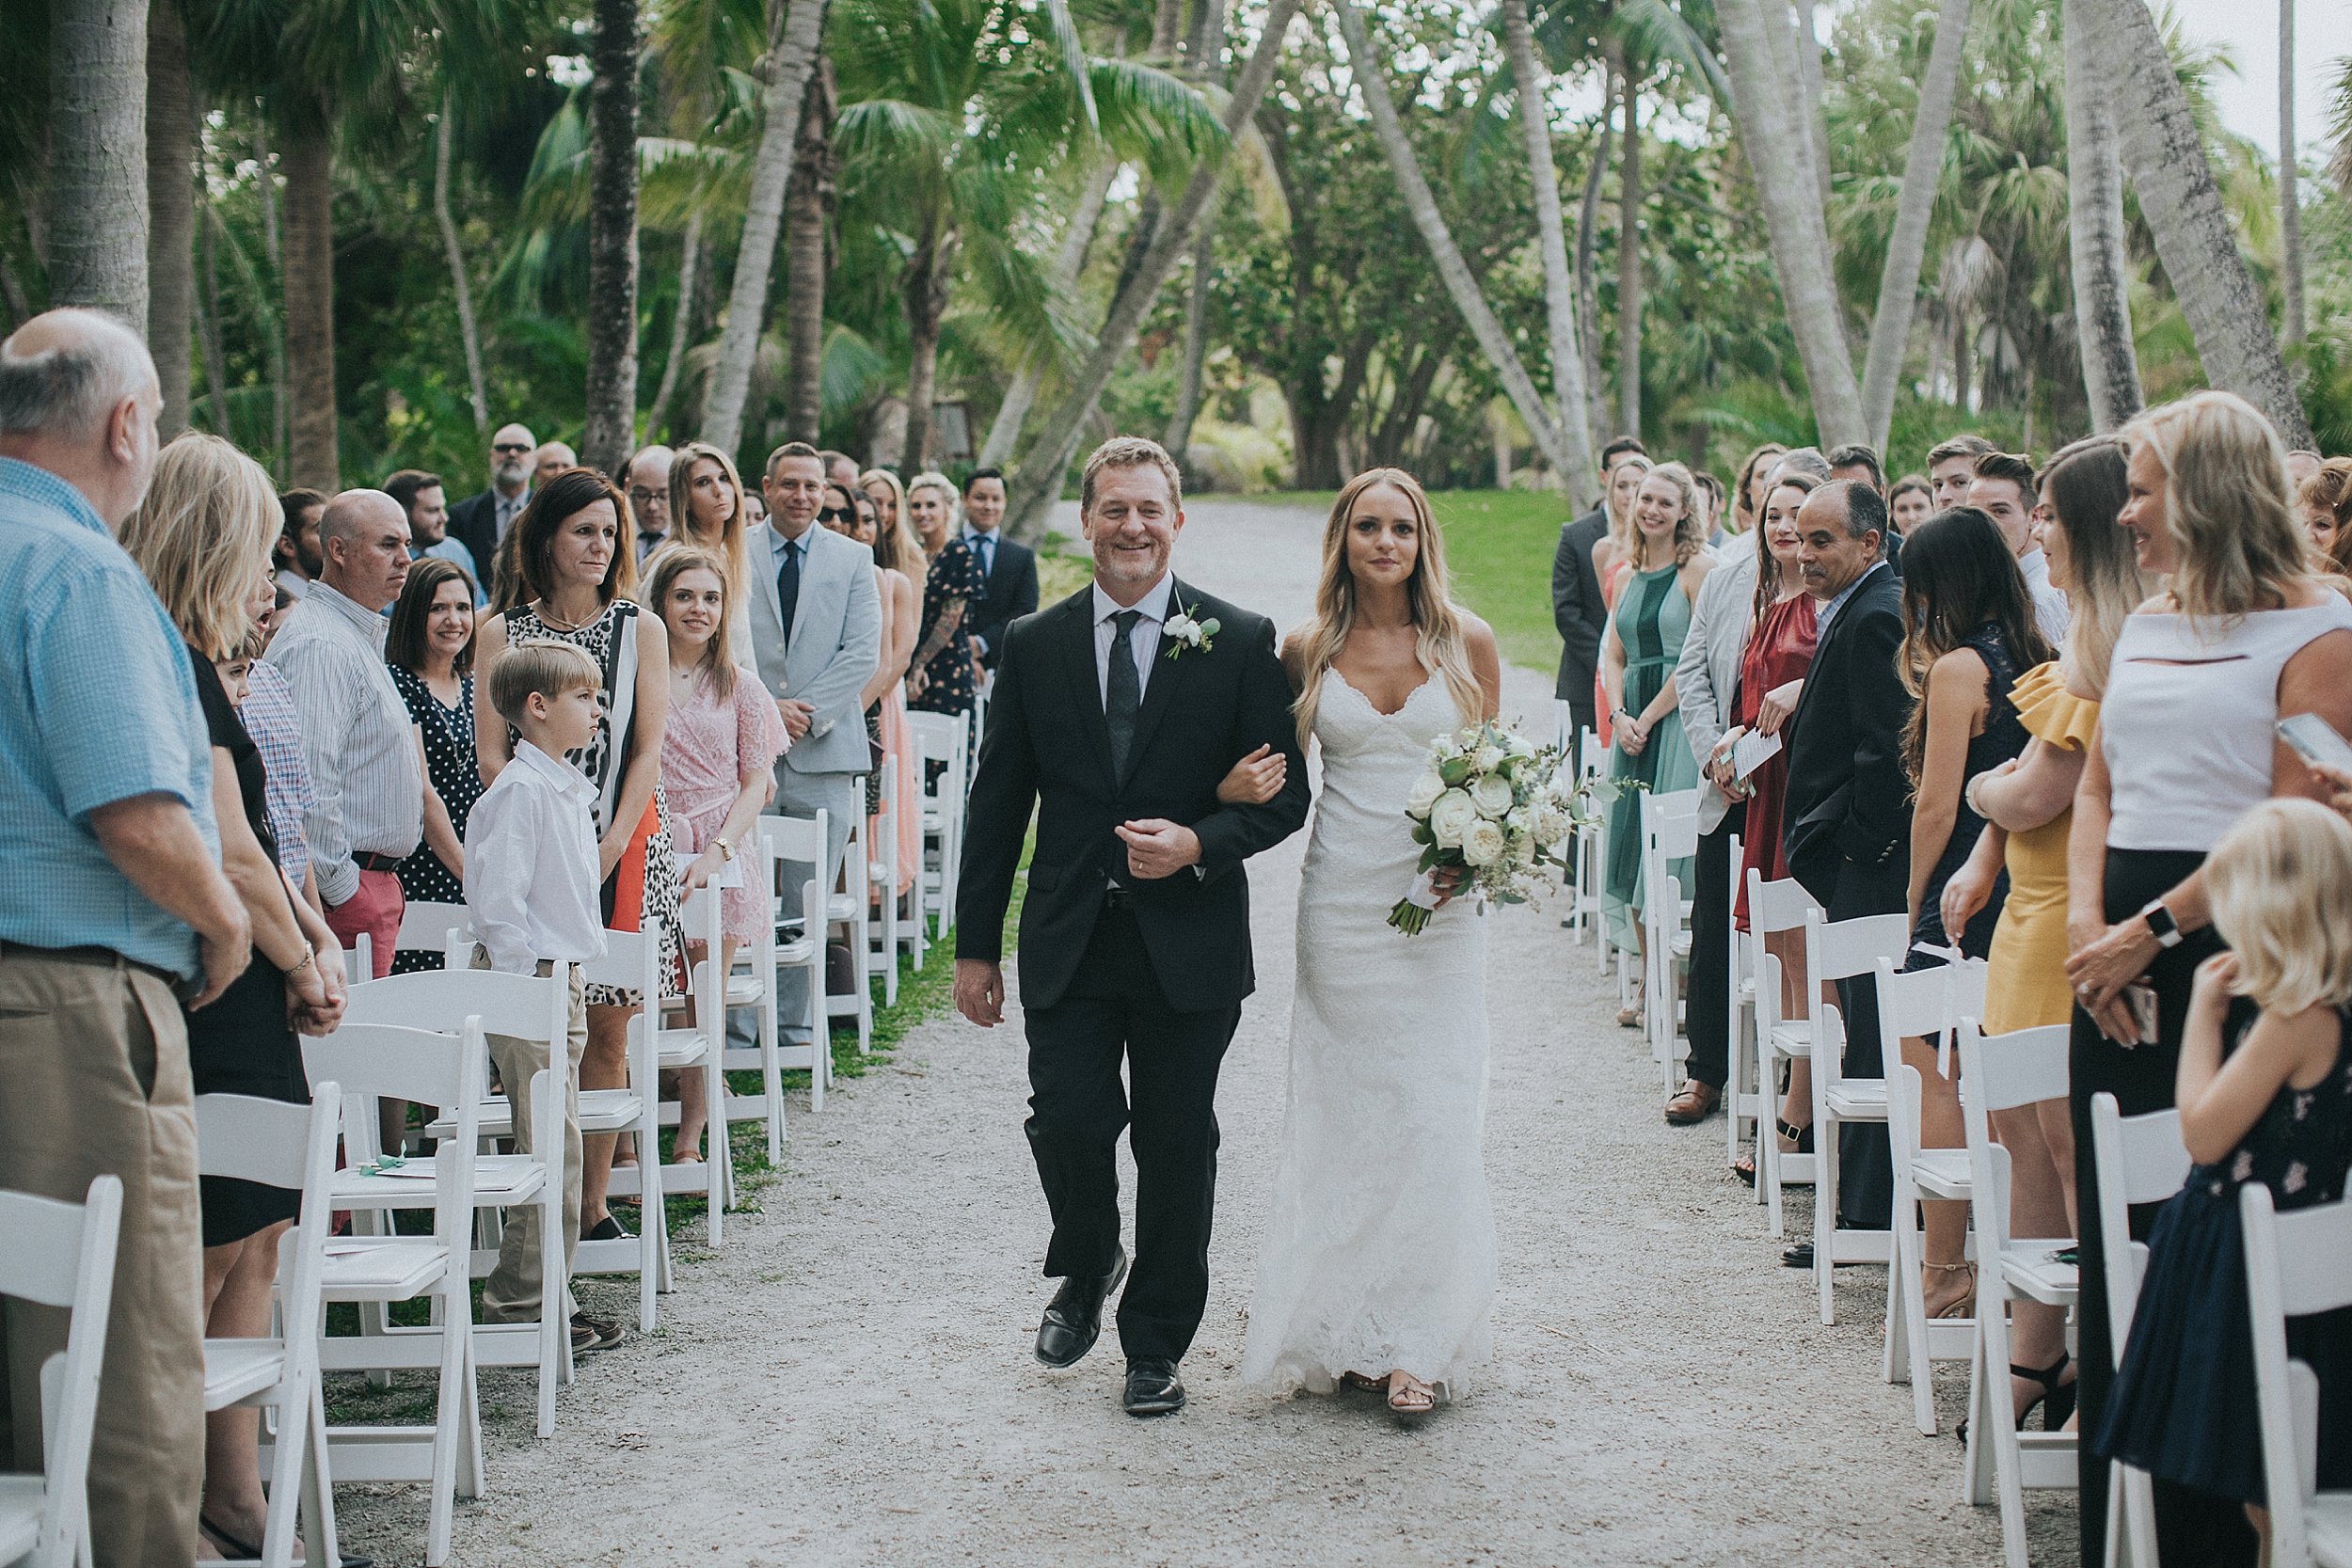
{"type": "Polygon", "coordinates": [[[1110,771],[1094,665],[1094,590],[1082,588],[1004,632],[988,701],[988,736],[971,780],[964,863],[955,898],[955,957],[997,959],[1030,806],[1037,851],[1021,907],[1021,999],[1061,1001],[1094,936],[1110,877],[1131,889],[1160,987],[1176,1011],[1237,1006],[1256,990],[1249,952],[1249,877],[1242,860],[1298,832],[1308,771],[1291,722],[1291,686],[1275,658],[1275,625],[1176,583],[1174,607],[1218,621],[1209,649],[1160,642],[1127,776],[1110,771]],[[1258,745],[1289,757],[1282,795],[1225,806],[1216,785],[1258,745]],[[1127,872],[1120,823],[1167,818],[1200,835],[1200,872],[1157,882],[1127,872]]]}

